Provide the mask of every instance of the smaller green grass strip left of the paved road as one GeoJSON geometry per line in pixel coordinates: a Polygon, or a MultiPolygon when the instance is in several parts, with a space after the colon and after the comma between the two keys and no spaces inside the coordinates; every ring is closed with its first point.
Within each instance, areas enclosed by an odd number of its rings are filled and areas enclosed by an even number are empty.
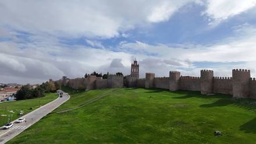
{"type": "MultiPolygon", "coordinates": [[[[16,118],[19,118],[19,111],[23,110],[24,114],[29,113],[30,111],[33,111],[34,109],[37,109],[38,106],[45,105],[48,102],[51,102],[52,100],[58,98],[58,95],[56,93],[49,93],[43,98],[37,98],[37,99],[27,99],[27,100],[18,100],[18,101],[12,101],[12,102],[3,102],[0,103],[0,114],[6,114],[8,116],[12,117],[12,120],[15,120],[16,118]],[[30,110],[30,107],[33,107],[33,110],[30,110]],[[14,113],[11,113],[10,111],[13,111],[14,113]]],[[[1,116],[0,115],[0,127],[4,125],[5,123],[8,123],[8,117],[1,116]]]]}

